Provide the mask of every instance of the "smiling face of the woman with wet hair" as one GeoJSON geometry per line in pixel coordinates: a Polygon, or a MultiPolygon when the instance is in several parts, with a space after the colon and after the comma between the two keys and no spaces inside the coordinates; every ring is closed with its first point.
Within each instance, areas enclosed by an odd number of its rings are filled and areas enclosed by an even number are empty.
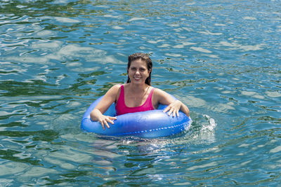
{"type": "Polygon", "coordinates": [[[131,83],[145,83],[146,78],[150,75],[150,71],[148,71],[146,62],[138,59],[131,62],[128,75],[131,83]]]}

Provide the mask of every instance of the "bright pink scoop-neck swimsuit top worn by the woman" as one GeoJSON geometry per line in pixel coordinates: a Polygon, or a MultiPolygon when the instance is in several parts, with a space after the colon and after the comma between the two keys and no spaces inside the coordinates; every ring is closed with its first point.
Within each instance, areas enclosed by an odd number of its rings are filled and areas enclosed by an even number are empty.
{"type": "Polygon", "coordinates": [[[121,85],[120,95],[119,95],[117,104],[115,106],[117,115],[122,115],[124,113],[133,113],[133,112],[138,112],[138,111],[154,110],[153,105],[152,105],[152,94],[153,94],[154,89],[155,88],[152,88],[152,90],[150,91],[150,94],[148,95],[148,99],[146,99],[144,104],[142,104],[141,106],[136,106],[136,107],[128,107],[125,104],[124,85],[121,85]]]}

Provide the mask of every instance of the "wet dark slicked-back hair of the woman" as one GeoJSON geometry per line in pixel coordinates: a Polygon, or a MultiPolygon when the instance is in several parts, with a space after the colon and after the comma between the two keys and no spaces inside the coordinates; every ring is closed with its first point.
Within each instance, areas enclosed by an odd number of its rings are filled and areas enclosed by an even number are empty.
{"type": "MultiPolygon", "coordinates": [[[[148,71],[150,71],[150,74],[148,76],[148,78],[145,79],[145,83],[148,85],[151,85],[151,72],[152,72],[152,60],[150,59],[150,57],[145,54],[145,53],[134,53],[133,55],[129,55],[128,57],[128,66],[127,66],[127,72],[129,71],[129,68],[131,67],[131,62],[133,62],[134,60],[143,60],[146,62],[146,66],[148,68],[148,71]]],[[[129,78],[129,74],[128,74],[128,79],[127,79],[127,83],[130,83],[130,78],[129,78]]]]}

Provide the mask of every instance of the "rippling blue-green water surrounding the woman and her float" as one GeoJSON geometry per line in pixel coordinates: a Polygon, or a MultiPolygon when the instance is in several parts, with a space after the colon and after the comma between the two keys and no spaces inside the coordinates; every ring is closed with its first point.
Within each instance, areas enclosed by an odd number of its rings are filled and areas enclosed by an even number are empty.
{"type": "Polygon", "coordinates": [[[0,1],[0,186],[279,186],[280,1],[0,1]],[[87,107],[150,53],[188,132],[108,138],[87,107]]]}

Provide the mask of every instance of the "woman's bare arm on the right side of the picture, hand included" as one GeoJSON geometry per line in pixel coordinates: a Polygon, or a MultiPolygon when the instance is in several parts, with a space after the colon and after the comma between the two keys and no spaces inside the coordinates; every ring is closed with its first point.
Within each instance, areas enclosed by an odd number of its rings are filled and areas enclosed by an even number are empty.
{"type": "Polygon", "coordinates": [[[183,104],[180,100],[175,100],[171,95],[164,92],[163,90],[155,89],[156,95],[155,100],[158,103],[168,105],[166,109],[164,109],[163,112],[168,112],[168,115],[170,116],[171,113],[173,113],[173,116],[178,116],[178,111],[183,111],[186,116],[190,116],[188,106],[183,104]]]}

